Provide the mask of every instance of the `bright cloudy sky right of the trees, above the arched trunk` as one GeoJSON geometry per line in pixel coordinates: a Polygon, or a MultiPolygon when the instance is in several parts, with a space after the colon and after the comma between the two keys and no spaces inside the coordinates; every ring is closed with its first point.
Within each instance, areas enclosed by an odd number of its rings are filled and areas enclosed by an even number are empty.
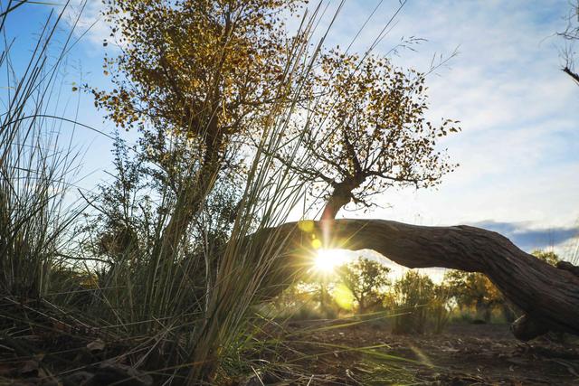
{"type": "MultiPolygon", "coordinates": [[[[346,4],[341,23],[359,25],[376,2],[346,4]],[[372,3],[372,5],[370,5],[372,3]],[[347,21],[352,20],[352,23],[347,21]]],[[[396,2],[371,21],[360,43],[378,33],[396,2]]],[[[529,250],[573,253],[579,219],[579,87],[562,71],[566,1],[409,1],[389,37],[428,41],[393,61],[427,70],[432,55],[459,54],[427,80],[432,119],[456,118],[448,138],[460,163],[436,190],[385,194],[374,217],[424,225],[470,223],[503,231],[529,250]],[[508,224],[508,227],[504,225],[508,224]]],[[[338,24],[339,25],[339,24],[338,24]]],[[[353,28],[336,31],[353,33],[353,28]]],[[[346,36],[337,37],[344,42],[346,36]]],[[[346,213],[360,215],[362,213],[346,213]]]]}

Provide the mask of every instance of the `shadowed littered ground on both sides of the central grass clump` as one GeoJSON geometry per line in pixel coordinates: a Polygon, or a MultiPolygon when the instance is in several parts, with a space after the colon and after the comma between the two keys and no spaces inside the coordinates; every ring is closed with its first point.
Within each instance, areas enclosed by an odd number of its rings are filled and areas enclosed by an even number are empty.
{"type": "MultiPolygon", "coordinates": [[[[142,362],[148,339],[127,342],[45,303],[0,301],[0,385],[159,384],[156,374],[167,360],[159,344],[142,362]]],[[[220,373],[220,385],[579,385],[576,337],[526,344],[508,325],[469,324],[448,325],[442,334],[394,335],[384,319],[356,318],[261,327],[247,341],[255,348],[239,352],[240,361],[229,366],[236,371],[220,373]]]]}

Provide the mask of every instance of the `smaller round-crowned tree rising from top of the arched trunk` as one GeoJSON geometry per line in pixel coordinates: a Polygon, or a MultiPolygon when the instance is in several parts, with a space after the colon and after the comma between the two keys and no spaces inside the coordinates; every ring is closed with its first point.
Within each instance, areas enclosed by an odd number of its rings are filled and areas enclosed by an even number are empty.
{"type": "Polygon", "coordinates": [[[438,184],[453,170],[437,139],[457,132],[458,121],[437,126],[424,118],[423,74],[395,69],[385,58],[337,50],[319,61],[313,101],[298,125],[308,130],[305,156],[315,161],[299,173],[321,186],[323,219],[335,218],[349,202],[369,206],[371,196],[393,186],[438,184]]]}

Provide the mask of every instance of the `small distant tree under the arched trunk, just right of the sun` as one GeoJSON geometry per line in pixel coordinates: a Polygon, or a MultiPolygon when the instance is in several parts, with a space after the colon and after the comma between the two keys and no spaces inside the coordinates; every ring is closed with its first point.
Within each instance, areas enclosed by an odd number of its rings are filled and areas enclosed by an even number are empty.
{"type": "Polygon", "coordinates": [[[390,285],[390,268],[370,259],[358,258],[337,268],[340,282],[356,299],[359,314],[371,311],[384,300],[384,287],[390,285]]]}

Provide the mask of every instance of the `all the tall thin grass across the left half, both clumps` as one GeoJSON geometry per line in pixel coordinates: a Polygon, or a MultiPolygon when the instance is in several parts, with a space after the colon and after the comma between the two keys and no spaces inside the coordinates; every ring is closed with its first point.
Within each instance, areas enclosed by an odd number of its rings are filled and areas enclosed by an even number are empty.
{"type": "MultiPolygon", "coordinates": [[[[61,306],[69,307],[71,297],[83,294],[82,311],[92,315],[102,331],[116,332],[129,347],[109,359],[154,369],[158,380],[166,383],[223,382],[230,370],[250,372],[252,365],[263,365],[244,355],[262,349],[255,344],[255,334],[267,320],[256,314],[256,306],[280,293],[280,275],[286,276],[287,283],[291,280],[288,272],[297,274],[299,267],[287,268],[288,240],[283,235],[268,233],[267,240],[259,235],[287,221],[306,195],[296,170],[308,168],[310,160],[296,161],[290,167],[280,164],[276,155],[283,152],[299,159],[306,133],[318,128],[308,127],[306,118],[297,136],[286,136],[289,122],[304,120],[300,103],[305,83],[315,71],[313,65],[327,34],[313,42],[319,12],[318,7],[311,16],[304,16],[300,26],[304,38],[289,47],[285,82],[278,90],[283,98],[253,122],[260,127],[256,145],[251,151],[247,147],[231,150],[233,158],[249,154],[252,161],[240,186],[241,201],[234,206],[233,225],[224,231],[226,240],[213,242],[210,232],[216,228],[209,223],[215,221],[212,200],[229,200],[217,181],[212,192],[201,194],[205,197],[202,209],[189,231],[195,240],[172,245],[171,253],[164,254],[166,259],[158,259],[155,246],[161,243],[170,213],[184,208],[176,207],[175,194],[167,186],[152,196],[139,192],[147,189],[138,184],[146,174],[131,166],[135,164],[123,155],[122,144],[117,153],[119,174],[112,185],[112,194],[122,202],[118,221],[105,233],[93,227],[86,228],[82,238],[72,233],[85,208],[68,195],[79,155],[70,144],[62,146],[66,118],[59,110],[58,82],[72,32],[56,59],[48,60],[64,11],[49,17],[22,74],[17,74],[10,60],[12,42],[5,41],[0,56],[8,85],[0,127],[3,295],[54,297],[63,291],[70,297],[59,297],[61,306]],[[214,245],[209,248],[207,244],[214,245]],[[65,253],[71,246],[78,248],[65,253]],[[81,291],[56,287],[62,278],[73,281],[81,291]]],[[[4,14],[2,29],[9,15],[4,14]]],[[[180,140],[175,138],[171,146],[186,146],[180,140]]],[[[190,162],[185,167],[197,167],[195,158],[190,162]]],[[[216,180],[221,177],[212,175],[216,180]]],[[[97,212],[102,209],[89,197],[86,205],[97,212]]],[[[110,213],[104,214],[106,218],[110,213]]]]}

